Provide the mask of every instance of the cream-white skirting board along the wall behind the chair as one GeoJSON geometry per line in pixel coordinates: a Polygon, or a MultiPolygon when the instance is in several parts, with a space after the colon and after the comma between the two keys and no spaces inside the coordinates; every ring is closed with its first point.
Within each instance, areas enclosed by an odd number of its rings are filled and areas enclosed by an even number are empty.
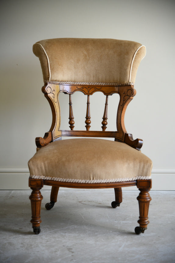
{"type": "MultiPolygon", "coordinates": [[[[29,190],[28,178],[28,168],[0,168],[0,190],[29,190]]],[[[49,190],[51,186],[44,185],[42,189],[49,190]]],[[[123,188],[123,190],[136,189],[136,186],[123,188]]],[[[152,190],[175,190],[175,169],[153,169],[152,190]]]]}

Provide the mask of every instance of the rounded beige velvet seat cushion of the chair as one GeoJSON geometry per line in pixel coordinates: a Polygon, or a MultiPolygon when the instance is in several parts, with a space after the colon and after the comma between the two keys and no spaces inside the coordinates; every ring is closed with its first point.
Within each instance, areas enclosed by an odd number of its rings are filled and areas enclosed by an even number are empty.
{"type": "Polygon", "coordinates": [[[152,161],[127,144],[91,138],[52,142],[28,165],[32,178],[75,183],[150,179],[152,169],[152,161]]]}

